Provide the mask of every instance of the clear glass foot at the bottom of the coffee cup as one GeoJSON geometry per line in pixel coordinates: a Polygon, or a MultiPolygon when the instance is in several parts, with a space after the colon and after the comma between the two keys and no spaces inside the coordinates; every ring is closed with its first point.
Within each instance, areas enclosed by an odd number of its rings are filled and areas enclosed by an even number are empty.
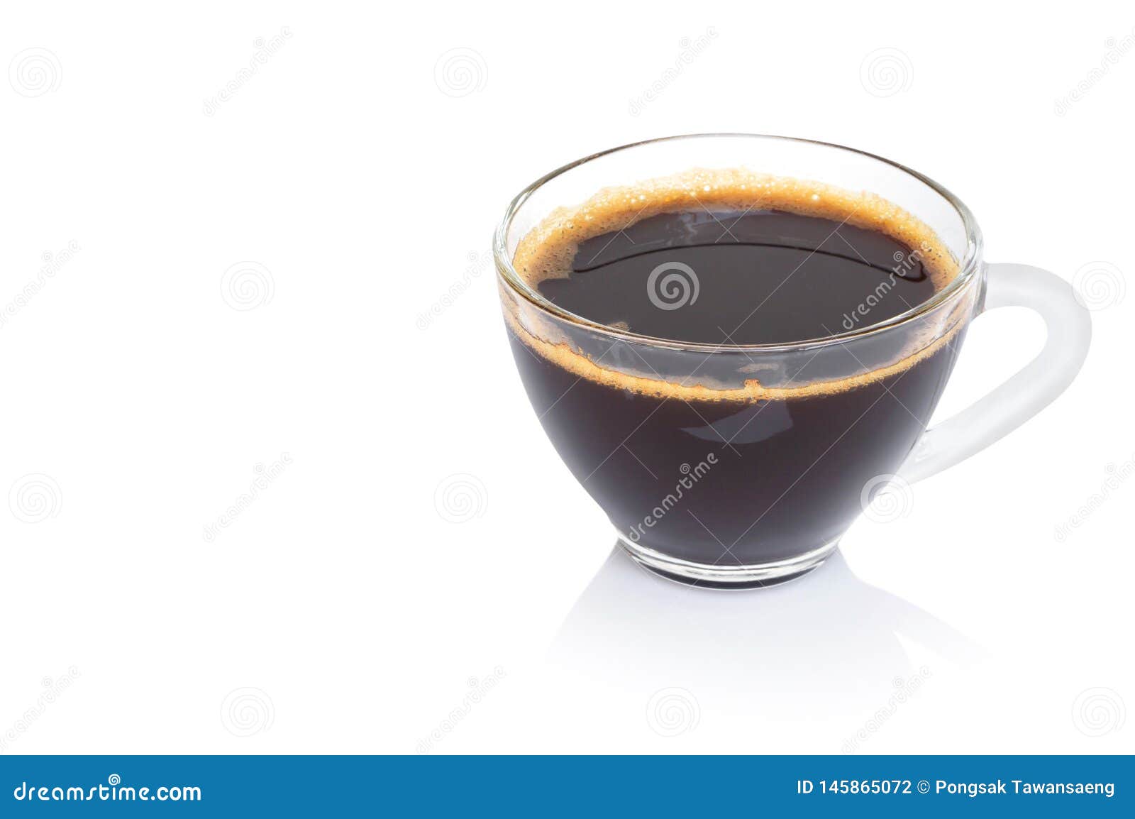
{"type": "Polygon", "coordinates": [[[794,558],[748,566],[695,563],[690,560],[663,554],[644,546],[641,543],[631,543],[622,535],[619,536],[619,545],[630,554],[634,562],[667,580],[698,588],[742,590],[767,588],[802,577],[823,563],[835,551],[839,540],[825,543],[818,549],[813,549],[794,558]]]}

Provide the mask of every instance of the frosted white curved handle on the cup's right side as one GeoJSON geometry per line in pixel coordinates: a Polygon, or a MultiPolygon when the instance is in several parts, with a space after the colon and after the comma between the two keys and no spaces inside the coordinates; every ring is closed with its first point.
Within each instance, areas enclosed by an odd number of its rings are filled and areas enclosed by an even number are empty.
{"type": "Polygon", "coordinates": [[[964,461],[1009,434],[1071,384],[1087,357],[1092,319],[1071,285],[1029,265],[989,265],[982,311],[1027,307],[1048,327],[1044,349],[1016,375],[958,415],[927,429],[899,469],[914,483],[964,461]]]}

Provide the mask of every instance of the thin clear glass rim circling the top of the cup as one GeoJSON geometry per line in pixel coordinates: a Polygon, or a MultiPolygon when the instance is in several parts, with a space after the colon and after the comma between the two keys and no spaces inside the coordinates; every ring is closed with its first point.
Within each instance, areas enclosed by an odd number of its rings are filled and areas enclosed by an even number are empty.
{"type": "Polygon", "coordinates": [[[572,162],[568,162],[538,178],[536,182],[528,185],[523,191],[521,191],[516,197],[508,203],[505,210],[504,218],[497,225],[496,231],[493,234],[493,258],[496,262],[497,275],[504,281],[508,287],[523,296],[527,301],[531,302],[537,308],[549,312],[565,321],[573,325],[587,327],[599,333],[604,333],[615,339],[621,339],[623,341],[638,342],[641,344],[648,344],[650,346],[663,346],[678,350],[693,350],[703,352],[716,352],[721,350],[739,350],[739,351],[782,351],[782,350],[801,350],[801,349],[814,349],[827,346],[830,344],[841,344],[843,342],[850,341],[852,339],[863,339],[866,336],[875,335],[884,331],[891,329],[933,311],[939,306],[948,302],[950,299],[956,296],[958,293],[964,292],[974,281],[978,278],[977,273],[981,268],[982,259],[982,232],[977,226],[977,220],[974,218],[973,212],[966,207],[958,197],[951,193],[944,185],[935,182],[925,174],[920,174],[913,168],[908,168],[900,162],[892,161],[885,157],[881,157],[876,153],[871,153],[869,151],[860,151],[857,148],[849,148],[848,145],[840,145],[834,142],[822,142],[819,140],[806,140],[797,136],[781,136],[777,134],[749,134],[749,133],[704,133],[704,134],[679,134],[675,136],[661,136],[653,140],[642,140],[639,142],[630,142],[624,145],[619,145],[616,148],[609,148],[605,151],[599,151],[598,153],[591,153],[587,157],[582,157],[572,162]],[[649,145],[658,142],[675,142],[679,140],[704,140],[714,137],[746,137],[754,140],[775,140],[782,142],[797,142],[801,144],[818,145],[822,148],[834,148],[841,151],[848,151],[850,153],[857,153],[861,157],[867,157],[885,165],[890,165],[892,168],[897,168],[909,176],[918,179],[927,187],[933,190],[938,195],[944,199],[950,207],[955,209],[958,216],[961,218],[962,226],[966,234],[966,252],[965,256],[959,260],[959,271],[958,275],[942,290],[938,291],[926,301],[915,304],[913,308],[900,312],[891,318],[876,321],[874,324],[865,325],[863,327],[856,327],[843,333],[836,333],[834,335],[824,336],[823,339],[805,339],[801,341],[793,342],[776,342],[772,344],[709,344],[703,342],[681,342],[673,339],[663,339],[658,336],[646,335],[642,333],[634,333],[632,331],[617,329],[598,321],[592,321],[583,316],[564,310],[562,307],[553,303],[545,296],[543,296],[539,291],[530,286],[523,278],[516,273],[515,268],[512,266],[512,259],[508,257],[506,237],[508,229],[512,226],[512,220],[515,218],[516,214],[528,201],[528,199],[539,190],[545,183],[554,179],[561,174],[565,174],[569,170],[579,167],[592,159],[598,159],[600,157],[606,157],[612,153],[619,153],[620,151],[627,151],[632,148],[640,148],[642,145],[649,145]]]}

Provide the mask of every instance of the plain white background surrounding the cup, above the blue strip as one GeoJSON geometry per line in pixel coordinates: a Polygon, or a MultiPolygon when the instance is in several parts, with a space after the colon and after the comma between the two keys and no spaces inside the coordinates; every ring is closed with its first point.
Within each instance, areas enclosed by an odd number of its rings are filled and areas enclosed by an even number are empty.
{"type": "MultiPolygon", "coordinates": [[[[1133,26],[1129,2],[8,7],[0,64],[33,70],[0,80],[0,750],[1135,751],[1133,26]],[[1051,407],[748,594],[607,562],[485,256],[544,173],[711,131],[915,167],[991,261],[1082,270],[1099,308],[1051,407]]],[[[977,319],[938,417],[1043,337],[977,319]]]]}

